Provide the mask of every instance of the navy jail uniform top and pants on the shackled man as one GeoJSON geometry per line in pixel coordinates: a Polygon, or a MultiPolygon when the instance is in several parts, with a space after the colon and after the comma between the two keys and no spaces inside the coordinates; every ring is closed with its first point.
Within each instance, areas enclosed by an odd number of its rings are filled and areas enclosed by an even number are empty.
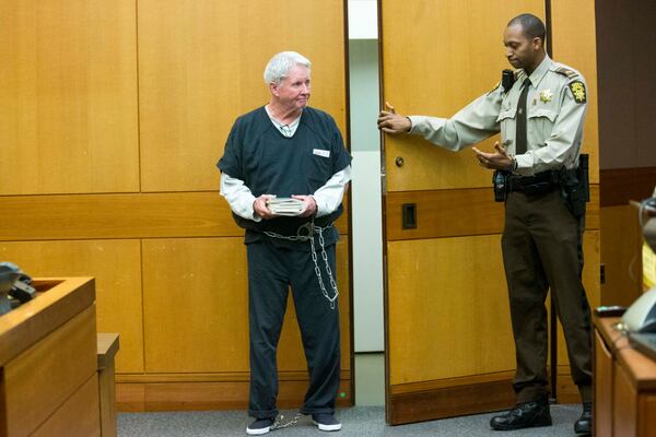
{"type": "MultiPolygon", "coordinates": [[[[218,167],[244,181],[257,198],[276,194],[312,194],[330,177],[347,168],[351,157],[337,125],[328,114],[306,107],[293,137],[284,137],[271,122],[265,107],[235,121],[218,167]]],[[[315,217],[316,226],[329,226],[342,213],[315,217]]],[[[309,373],[309,387],[301,412],[333,413],[340,382],[339,311],[323,295],[309,241],[272,238],[265,232],[293,236],[312,217],[276,217],[260,222],[233,213],[246,229],[248,255],[248,305],[250,335],[250,395],[248,413],[258,418],[278,414],[276,352],[282,329],[289,287],[309,373]]],[[[323,232],[329,267],[336,275],[335,226],[323,232]]],[[[318,238],[314,236],[324,284],[333,295],[318,238]]]]}

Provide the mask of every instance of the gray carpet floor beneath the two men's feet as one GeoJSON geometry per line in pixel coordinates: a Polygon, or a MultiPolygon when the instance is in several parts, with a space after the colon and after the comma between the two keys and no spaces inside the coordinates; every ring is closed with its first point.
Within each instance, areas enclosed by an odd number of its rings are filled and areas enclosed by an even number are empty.
{"type": "MultiPolygon", "coordinates": [[[[337,417],[342,429],[337,433],[325,433],[312,424],[308,416],[303,416],[294,426],[276,429],[267,436],[271,437],[424,437],[424,436],[462,436],[462,437],[563,437],[575,436],[574,422],[581,415],[581,405],[552,405],[553,426],[522,429],[514,432],[494,432],[489,422],[494,414],[445,418],[411,425],[388,426],[385,424],[385,410],[382,406],[354,406],[341,409],[337,417]]],[[[282,411],[285,417],[292,418],[295,411],[282,411]]],[[[218,437],[246,436],[246,426],[250,418],[244,411],[210,412],[173,412],[173,413],[119,413],[119,437],[218,437]]]]}

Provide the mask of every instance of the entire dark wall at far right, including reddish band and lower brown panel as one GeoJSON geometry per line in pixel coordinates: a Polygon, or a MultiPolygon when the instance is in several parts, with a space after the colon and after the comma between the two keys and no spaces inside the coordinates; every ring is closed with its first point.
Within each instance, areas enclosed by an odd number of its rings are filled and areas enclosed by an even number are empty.
{"type": "Polygon", "coordinates": [[[597,1],[599,69],[599,161],[604,305],[631,305],[642,294],[642,231],[630,200],[652,196],[656,186],[656,47],[649,24],[652,0],[597,1]],[[626,47],[641,46],[641,50],[626,47]]]}

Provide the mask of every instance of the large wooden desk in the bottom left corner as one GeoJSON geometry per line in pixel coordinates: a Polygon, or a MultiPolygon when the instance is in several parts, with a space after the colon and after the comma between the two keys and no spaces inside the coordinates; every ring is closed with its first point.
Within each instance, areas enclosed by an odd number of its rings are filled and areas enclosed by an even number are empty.
{"type": "Polygon", "coordinates": [[[0,317],[0,437],[99,436],[94,280],[34,284],[0,317]]]}

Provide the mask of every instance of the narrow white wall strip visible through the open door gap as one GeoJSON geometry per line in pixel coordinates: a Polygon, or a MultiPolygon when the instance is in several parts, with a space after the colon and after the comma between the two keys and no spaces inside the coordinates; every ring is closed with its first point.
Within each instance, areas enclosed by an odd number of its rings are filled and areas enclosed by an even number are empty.
{"type": "Polygon", "coordinates": [[[385,349],[376,25],[375,0],[349,1],[355,353],[385,349]]]}

